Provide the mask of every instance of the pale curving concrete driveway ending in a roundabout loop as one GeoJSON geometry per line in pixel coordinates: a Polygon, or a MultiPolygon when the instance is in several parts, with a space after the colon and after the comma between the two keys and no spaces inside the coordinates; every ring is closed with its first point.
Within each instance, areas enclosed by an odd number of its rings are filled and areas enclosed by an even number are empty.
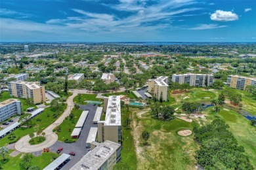
{"type": "Polygon", "coordinates": [[[66,118],[66,116],[70,114],[71,110],[74,108],[73,99],[76,95],[77,93],[73,92],[73,94],[70,97],[68,97],[67,99],[68,106],[66,110],[64,110],[63,114],[53,124],[51,124],[44,130],[45,141],[43,143],[31,145],[29,143],[30,136],[26,135],[22,137],[20,140],[18,140],[18,142],[16,142],[15,144],[16,150],[20,152],[36,152],[39,150],[43,150],[43,148],[49,148],[54,143],[56,143],[56,141],[58,140],[58,135],[56,135],[56,133],[53,132],[53,129],[56,126],[59,126],[63,122],[63,120],[66,118]]]}

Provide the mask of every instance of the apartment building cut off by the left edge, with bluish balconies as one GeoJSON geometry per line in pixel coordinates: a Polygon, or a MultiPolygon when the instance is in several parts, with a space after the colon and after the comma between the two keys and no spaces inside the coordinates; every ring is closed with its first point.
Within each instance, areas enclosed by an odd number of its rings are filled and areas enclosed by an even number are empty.
{"type": "Polygon", "coordinates": [[[22,105],[18,99],[8,99],[0,103],[0,122],[11,118],[14,114],[22,114],[22,105]]]}

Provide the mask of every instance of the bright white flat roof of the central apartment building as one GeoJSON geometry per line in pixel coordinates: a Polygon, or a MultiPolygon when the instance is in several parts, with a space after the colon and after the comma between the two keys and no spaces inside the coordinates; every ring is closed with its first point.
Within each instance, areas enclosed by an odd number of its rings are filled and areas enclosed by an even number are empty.
{"type": "Polygon", "coordinates": [[[121,126],[120,95],[110,95],[104,126],[121,126]]]}

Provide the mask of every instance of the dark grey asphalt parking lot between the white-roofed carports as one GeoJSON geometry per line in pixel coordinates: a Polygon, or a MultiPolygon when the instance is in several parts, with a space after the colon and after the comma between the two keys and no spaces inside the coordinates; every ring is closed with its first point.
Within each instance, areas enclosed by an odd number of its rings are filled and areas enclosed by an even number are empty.
{"type": "Polygon", "coordinates": [[[81,135],[79,139],[75,143],[62,143],[57,141],[50,147],[51,152],[55,152],[58,148],[62,147],[63,150],[61,153],[69,154],[70,152],[75,152],[75,156],[70,157],[70,161],[62,167],[62,169],[70,169],[77,163],[77,161],[81,160],[85,154],[89,152],[88,148],[86,148],[86,141],[89,135],[89,131],[91,127],[97,127],[97,124],[93,124],[93,118],[95,116],[97,106],[93,106],[91,104],[88,105],[79,105],[81,110],[89,110],[87,119],[85,121],[85,125],[81,131],[81,135]]]}

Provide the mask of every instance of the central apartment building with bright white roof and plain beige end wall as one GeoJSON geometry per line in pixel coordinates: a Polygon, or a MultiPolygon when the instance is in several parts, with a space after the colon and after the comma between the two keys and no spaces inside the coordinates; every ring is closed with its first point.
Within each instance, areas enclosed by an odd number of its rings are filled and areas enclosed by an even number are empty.
{"type": "Polygon", "coordinates": [[[98,142],[121,143],[121,105],[119,95],[104,97],[104,121],[98,121],[98,142]]]}

